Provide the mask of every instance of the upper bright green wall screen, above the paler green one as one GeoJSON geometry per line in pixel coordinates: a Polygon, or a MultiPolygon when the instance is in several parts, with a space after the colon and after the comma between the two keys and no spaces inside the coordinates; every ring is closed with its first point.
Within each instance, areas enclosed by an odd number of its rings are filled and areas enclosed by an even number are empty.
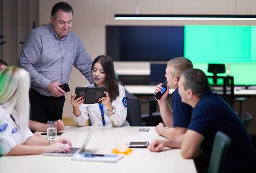
{"type": "Polygon", "coordinates": [[[192,62],[256,62],[255,27],[187,25],[184,36],[192,62]]]}

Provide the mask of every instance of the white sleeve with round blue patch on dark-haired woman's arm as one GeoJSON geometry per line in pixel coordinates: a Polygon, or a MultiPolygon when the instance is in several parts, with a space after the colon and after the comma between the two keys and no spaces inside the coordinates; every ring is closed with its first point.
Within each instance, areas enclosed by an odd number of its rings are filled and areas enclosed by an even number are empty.
{"type": "Polygon", "coordinates": [[[119,85],[119,96],[113,101],[115,113],[110,116],[113,125],[120,127],[123,125],[127,115],[127,104],[124,87],[119,85]],[[114,102],[115,101],[115,102],[114,102]]]}

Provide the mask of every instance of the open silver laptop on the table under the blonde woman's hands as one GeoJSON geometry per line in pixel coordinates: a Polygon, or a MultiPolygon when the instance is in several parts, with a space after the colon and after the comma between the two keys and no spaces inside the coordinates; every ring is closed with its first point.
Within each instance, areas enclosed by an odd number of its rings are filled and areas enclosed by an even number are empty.
{"type": "Polygon", "coordinates": [[[51,153],[43,153],[45,156],[74,156],[77,153],[83,153],[85,152],[85,147],[89,143],[89,140],[92,136],[92,133],[95,131],[96,126],[91,126],[88,134],[85,137],[84,143],[81,148],[71,147],[69,152],[63,152],[63,151],[55,151],[51,153]]]}

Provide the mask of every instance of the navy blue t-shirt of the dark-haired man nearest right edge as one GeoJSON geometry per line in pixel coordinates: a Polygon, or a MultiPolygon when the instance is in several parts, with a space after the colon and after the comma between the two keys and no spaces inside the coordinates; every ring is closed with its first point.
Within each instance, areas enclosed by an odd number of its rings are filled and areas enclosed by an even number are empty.
{"type": "Polygon", "coordinates": [[[188,129],[204,136],[201,151],[207,163],[215,134],[220,130],[231,138],[224,173],[247,173],[256,169],[255,149],[243,122],[217,93],[209,91],[201,97],[192,111],[188,129]]]}

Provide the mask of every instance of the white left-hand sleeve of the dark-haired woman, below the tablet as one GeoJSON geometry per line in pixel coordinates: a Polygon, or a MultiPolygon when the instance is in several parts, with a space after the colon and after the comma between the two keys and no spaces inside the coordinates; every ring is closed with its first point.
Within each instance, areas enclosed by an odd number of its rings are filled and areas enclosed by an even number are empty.
{"type": "Polygon", "coordinates": [[[86,120],[89,119],[88,117],[88,107],[86,106],[86,104],[81,104],[79,106],[79,110],[81,112],[80,116],[73,116],[73,121],[76,123],[77,126],[82,127],[85,126],[86,124],[86,120]]]}

